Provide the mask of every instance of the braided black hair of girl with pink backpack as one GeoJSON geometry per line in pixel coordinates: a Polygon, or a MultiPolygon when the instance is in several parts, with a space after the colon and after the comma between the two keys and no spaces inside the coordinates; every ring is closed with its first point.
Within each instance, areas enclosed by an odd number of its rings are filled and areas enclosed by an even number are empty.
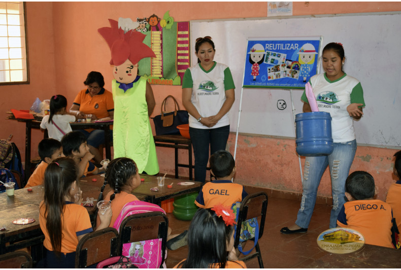
{"type": "MultiPolygon", "coordinates": [[[[111,202],[116,197],[116,194],[120,193],[122,188],[129,184],[129,180],[131,180],[136,174],[137,165],[133,160],[129,158],[118,158],[112,160],[109,165],[107,165],[105,182],[103,183],[97,202],[104,199],[103,191],[105,190],[106,184],[109,184],[114,190],[114,193],[110,196],[111,202]]],[[[97,218],[98,210],[97,206],[95,206],[94,220],[97,218]]],[[[96,222],[94,226],[96,226],[96,222]]]]}

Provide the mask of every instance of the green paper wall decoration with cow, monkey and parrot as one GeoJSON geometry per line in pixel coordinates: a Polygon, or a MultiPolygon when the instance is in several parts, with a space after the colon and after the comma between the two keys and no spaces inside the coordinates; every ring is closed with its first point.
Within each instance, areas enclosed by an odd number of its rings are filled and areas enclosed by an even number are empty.
{"type": "Polygon", "coordinates": [[[146,35],[144,43],[155,58],[139,62],[139,74],[155,85],[181,85],[189,67],[189,22],[175,22],[169,11],[160,19],[156,14],[137,18],[137,31],[146,35]]]}

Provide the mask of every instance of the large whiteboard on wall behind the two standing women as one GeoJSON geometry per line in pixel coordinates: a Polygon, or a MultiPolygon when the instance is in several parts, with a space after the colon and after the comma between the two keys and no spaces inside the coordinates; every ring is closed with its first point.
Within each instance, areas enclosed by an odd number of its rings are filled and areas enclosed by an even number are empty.
{"type": "MultiPolygon", "coordinates": [[[[361,82],[364,92],[364,115],[354,121],[358,144],[399,148],[400,22],[400,14],[191,21],[191,47],[197,37],[212,36],[215,61],[230,67],[236,85],[236,101],[229,112],[230,130],[236,131],[249,37],[323,36],[323,47],[341,42],[346,55],[344,71],[361,82]]],[[[196,61],[192,50],[192,65],[196,61]]],[[[302,112],[302,92],[292,90],[295,114],[302,112]]],[[[290,90],[244,89],[239,132],[294,138],[291,107],[290,90]],[[286,102],[285,109],[278,109],[279,100],[286,102]]]]}

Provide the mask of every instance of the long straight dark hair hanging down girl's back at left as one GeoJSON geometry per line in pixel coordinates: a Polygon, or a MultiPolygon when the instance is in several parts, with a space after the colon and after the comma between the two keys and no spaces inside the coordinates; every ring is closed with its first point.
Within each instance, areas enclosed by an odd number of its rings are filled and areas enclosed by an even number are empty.
{"type": "Polygon", "coordinates": [[[77,179],[78,168],[70,158],[55,159],[45,171],[45,198],[42,207],[45,207],[46,230],[56,256],[60,256],[61,252],[65,197],[70,195],[71,185],[77,179]]]}

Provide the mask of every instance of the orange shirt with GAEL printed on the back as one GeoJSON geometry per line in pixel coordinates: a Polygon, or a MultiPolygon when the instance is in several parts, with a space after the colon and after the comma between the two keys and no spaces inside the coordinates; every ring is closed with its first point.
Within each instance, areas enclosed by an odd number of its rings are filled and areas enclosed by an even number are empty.
{"type": "Polygon", "coordinates": [[[211,208],[217,204],[231,207],[237,202],[242,202],[247,195],[240,184],[231,180],[214,180],[200,188],[195,204],[200,208],[211,208]]]}

